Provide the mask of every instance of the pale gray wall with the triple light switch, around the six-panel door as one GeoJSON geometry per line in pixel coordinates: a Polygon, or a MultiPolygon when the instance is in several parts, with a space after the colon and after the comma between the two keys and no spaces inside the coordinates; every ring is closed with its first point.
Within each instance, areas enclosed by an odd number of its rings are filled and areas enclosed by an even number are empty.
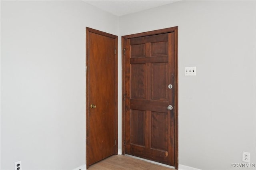
{"type": "Polygon", "coordinates": [[[180,164],[232,169],[243,150],[256,163],[255,9],[255,1],[180,1],[120,17],[120,36],[178,26],[180,164]],[[185,77],[186,66],[197,75],[185,77]]]}

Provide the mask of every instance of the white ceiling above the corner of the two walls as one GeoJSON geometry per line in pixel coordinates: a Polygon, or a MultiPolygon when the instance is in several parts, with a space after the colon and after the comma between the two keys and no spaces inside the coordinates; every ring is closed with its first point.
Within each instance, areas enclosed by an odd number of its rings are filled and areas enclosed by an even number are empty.
{"type": "Polygon", "coordinates": [[[177,2],[178,0],[83,0],[101,10],[122,16],[177,2]]]}

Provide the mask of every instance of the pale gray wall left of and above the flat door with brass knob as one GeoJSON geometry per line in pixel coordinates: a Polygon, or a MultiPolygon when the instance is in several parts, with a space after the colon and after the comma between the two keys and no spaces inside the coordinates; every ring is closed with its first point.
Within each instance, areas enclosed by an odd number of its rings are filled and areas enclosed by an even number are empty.
{"type": "Polygon", "coordinates": [[[1,170],[85,164],[86,27],[118,17],[82,1],[1,1],[1,170]]]}

